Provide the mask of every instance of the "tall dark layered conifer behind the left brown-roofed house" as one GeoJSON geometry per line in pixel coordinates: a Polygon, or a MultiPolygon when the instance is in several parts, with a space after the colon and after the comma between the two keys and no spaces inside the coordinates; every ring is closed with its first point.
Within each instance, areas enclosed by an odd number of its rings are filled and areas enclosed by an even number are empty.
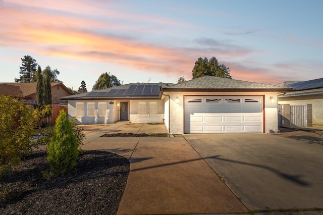
{"type": "Polygon", "coordinates": [[[36,72],[37,62],[32,57],[24,56],[21,59],[22,66],[20,67],[20,77],[15,78],[15,82],[33,82],[34,81],[34,73],[36,72]]]}

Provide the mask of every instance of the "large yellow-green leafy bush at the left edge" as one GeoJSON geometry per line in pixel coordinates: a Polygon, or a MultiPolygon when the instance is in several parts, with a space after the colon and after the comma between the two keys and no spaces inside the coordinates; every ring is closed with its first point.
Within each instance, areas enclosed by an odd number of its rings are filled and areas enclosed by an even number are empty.
{"type": "Polygon", "coordinates": [[[12,166],[32,151],[30,141],[36,126],[37,113],[32,113],[17,99],[0,95],[0,175],[11,175],[12,166]]]}

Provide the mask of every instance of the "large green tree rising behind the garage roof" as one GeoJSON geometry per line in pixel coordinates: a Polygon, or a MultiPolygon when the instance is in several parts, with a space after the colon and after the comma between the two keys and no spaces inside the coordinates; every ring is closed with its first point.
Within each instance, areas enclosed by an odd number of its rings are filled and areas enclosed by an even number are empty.
{"type": "Polygon", "coordinates": [[[192,75],[193,78],[209,75],[232,79],[230,75],[230,68],[226,67],[224,64],[219,65],[216,57],[212,57],[210,58],[210,60],[208,60],[207,58],[197,59],[192,70],[192,75]]]}

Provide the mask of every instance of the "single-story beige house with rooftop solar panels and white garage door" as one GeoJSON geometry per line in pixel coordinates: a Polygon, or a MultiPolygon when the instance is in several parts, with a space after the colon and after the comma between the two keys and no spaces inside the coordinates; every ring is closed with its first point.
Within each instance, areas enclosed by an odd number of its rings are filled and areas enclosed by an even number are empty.
{"type": "Polygon", "coordinates": [[[81,124],[165,122],[170,133],[278,131],[278,92],[291,88],[213,76],[181,84],[126,84],[65,96],[81,124]]]}

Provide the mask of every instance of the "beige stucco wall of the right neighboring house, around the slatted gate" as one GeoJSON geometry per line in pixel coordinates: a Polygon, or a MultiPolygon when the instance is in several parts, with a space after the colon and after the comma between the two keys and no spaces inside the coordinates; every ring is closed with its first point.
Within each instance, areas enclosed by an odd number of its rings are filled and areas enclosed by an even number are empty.
{"type": "Polygon", "coordinates": [[[278,98],[278,103],[290,105],[312,104],[312,126],[323,127],[323,94],[280,97],[278,98]]]}

